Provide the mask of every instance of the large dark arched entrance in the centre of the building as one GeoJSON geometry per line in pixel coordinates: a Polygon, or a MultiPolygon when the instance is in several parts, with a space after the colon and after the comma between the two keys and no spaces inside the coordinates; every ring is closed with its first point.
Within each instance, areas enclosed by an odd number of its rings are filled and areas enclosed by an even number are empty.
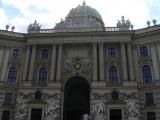
{"type": "Polygon", "coordinates": [[[81,120],[90,111],[89,83],[80,76],[70,78],[64,87],[63,120],[81,120]]]}

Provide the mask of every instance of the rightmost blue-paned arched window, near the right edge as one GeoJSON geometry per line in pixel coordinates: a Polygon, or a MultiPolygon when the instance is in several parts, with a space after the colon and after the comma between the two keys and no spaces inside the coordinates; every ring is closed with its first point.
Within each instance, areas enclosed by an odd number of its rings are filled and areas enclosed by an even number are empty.
{"type": "Polygon", "coordinates": [[[152,71],[149,65],[144,65],[142,67],[142,76],[145,84],[152,83],[152,71]]]}

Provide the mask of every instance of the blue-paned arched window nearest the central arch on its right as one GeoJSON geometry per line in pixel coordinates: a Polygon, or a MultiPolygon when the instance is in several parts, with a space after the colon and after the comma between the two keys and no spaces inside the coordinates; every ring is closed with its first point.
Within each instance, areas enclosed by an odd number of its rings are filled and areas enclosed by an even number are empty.
{"type": "Polygon", "coordinates": [[[118,72],[116,67],[114,66],[109,67],[108,79],[110,82],[118,82],[118,72]]]}

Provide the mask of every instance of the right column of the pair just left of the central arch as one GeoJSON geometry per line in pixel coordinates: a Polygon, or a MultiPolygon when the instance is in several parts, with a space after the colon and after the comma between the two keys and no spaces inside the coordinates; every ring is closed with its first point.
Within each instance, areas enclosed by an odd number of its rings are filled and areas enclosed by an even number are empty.
{"type": "Polygon", "coordinates": [[[63,45],[58,45],[58,60],[57,60],[57,81],[61,80],[62,72],[62,57],[63,57],[63,45]]]}

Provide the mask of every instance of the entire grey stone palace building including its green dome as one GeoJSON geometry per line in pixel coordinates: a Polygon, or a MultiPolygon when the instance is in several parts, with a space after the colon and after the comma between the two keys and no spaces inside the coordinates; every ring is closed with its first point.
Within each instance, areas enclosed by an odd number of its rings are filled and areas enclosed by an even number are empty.
{"type": "Polygon", "coordinates": [[[0,119],[160,120],[160,25],[105,27],[83,3],[54,29],[0,30],[0,119]]]}

